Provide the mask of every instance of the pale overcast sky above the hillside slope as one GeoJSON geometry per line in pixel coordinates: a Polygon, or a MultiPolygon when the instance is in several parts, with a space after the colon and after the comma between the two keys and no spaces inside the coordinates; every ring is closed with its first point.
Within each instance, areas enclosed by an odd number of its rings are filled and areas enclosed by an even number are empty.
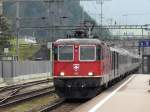
{"type": "MultiPolygon", "coordinates": [[[[100,21],[101,6],[96,2],[81,2],[84,9],[100,21]]],[[[150,0],[112,0],[103,5],[104,24],[150,24],[150,0]]]]}

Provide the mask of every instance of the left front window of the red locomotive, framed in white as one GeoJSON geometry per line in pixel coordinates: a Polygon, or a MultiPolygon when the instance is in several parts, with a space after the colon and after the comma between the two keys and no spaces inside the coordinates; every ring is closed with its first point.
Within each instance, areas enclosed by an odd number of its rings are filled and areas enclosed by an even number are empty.
{"type": "Polygon", "coordinates": [[[58,47],[58,59],[60,61],[73,61],[73,46],[60,45],[58,47]]]}

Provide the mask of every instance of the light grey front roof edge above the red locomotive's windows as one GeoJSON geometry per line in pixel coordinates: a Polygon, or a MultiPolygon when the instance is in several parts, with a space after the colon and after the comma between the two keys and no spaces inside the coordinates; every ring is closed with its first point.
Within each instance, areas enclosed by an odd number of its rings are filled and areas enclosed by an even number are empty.
{"type": "Polygon", "coordinates": [[[59,39],[55,42],[56,44],[101,44],[102,42],[98,39],[59,39]]]}

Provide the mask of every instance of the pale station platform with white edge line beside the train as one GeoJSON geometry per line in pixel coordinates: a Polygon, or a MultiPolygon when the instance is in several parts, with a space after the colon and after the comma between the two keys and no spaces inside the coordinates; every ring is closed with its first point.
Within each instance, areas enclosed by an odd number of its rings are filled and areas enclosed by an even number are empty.
{"type": "Polygon", "coordinates": [[[150,112],[150,75],[134,74],[72,112],[150,112]]]}

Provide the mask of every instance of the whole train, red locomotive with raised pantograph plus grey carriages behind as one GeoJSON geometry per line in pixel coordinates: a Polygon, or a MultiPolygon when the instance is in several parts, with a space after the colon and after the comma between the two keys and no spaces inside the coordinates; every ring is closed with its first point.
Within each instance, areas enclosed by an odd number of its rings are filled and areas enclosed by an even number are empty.
{"type": "Polygon", "coordinates": [[[54,86],[60,97],[92,98],[103,86],[138,70],[141,64],[139,55],[92,39],[93,27],[86,26],[69,36],[75,39],[53,43],[54,86]]]}

